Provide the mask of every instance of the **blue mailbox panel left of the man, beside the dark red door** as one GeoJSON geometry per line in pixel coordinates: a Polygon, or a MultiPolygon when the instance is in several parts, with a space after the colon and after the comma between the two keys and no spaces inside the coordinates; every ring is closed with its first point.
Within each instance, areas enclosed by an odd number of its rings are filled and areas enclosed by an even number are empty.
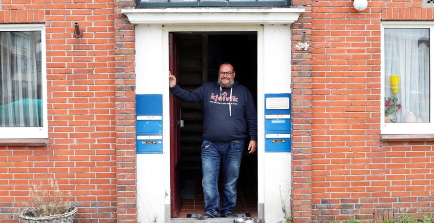
{"type": "Polygon", "coordinates": [[[162,102],[162,95],[136,95],[137,154],[163,153],[162,102]]]}

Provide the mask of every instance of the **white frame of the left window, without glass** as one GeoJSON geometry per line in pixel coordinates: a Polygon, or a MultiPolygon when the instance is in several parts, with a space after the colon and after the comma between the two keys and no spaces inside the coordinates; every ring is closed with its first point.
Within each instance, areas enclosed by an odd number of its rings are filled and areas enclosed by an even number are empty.
{"type": "Polygon", "coordinates": [[[43,126],[0,127],[0,139],[48,139],[47,72],[44,24],[0,24],[0,31],[41,31],[41,89],[43,126]]]}

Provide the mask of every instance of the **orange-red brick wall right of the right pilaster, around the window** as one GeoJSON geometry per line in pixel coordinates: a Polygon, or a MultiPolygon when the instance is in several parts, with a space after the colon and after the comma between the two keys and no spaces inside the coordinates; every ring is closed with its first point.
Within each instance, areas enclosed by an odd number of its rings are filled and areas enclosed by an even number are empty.
{"type": "Polygon", "coordinates": [[[380,20],[433,20],[433,10],[368,2],[363,12],[312,2],[312,222],[434,211],[433,142],[380,141],[380,20]]]}

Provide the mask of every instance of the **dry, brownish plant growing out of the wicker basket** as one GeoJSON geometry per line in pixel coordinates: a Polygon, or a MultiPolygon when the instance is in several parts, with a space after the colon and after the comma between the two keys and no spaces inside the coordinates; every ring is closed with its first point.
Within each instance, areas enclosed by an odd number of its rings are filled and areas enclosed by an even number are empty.
{"type": "MultiPolygon", "coordinates": [[[[69,211],[70,202],[65,198],[65,194],[59,189],[57,181],[50,180],[50,185],[33,185],[30,188],[30,195],[34,198],[33,217],[45,217],[56,214],[65,214],[69,211]]],[[[68,197],[70,193],[66,194],[68,197]]]]}

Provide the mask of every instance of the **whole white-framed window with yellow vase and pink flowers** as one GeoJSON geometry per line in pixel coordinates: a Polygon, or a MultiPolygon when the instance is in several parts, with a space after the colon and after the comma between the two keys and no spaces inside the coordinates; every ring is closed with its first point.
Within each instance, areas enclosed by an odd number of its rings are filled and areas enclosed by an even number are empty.
{"type": "Polygon", "coordinates": [[[433,22],[383,22],[381,134],[434,134],[433,32],[433,22]]]}

